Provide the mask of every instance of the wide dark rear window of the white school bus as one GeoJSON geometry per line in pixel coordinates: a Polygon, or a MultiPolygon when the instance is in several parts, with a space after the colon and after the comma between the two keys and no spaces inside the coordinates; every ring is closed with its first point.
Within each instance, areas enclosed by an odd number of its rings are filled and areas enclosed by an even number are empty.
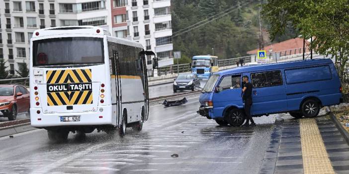
{"type": "Polygon", "coordinates": [[[33,66],[104,63],[103,38],[68,37],[33,42],[33,66]]]}

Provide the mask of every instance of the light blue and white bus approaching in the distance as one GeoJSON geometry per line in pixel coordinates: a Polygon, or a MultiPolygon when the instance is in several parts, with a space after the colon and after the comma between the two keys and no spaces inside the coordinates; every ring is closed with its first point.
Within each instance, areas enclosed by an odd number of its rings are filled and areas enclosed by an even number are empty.
{"type": "Polygon", "coordinates": [[[217,56],[194,56],[191,62],[191,72],[200,79],[208,79],[213,72],[218,71],[217,56]]]}

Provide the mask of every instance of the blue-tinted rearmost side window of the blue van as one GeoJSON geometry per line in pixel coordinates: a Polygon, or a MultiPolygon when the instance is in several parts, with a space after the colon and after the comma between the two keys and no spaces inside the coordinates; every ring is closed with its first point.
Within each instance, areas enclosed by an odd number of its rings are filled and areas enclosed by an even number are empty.
{"type": "Polygon", "coordinates": [[[302,83],[332,79],[331,69],[328,65],[285,70],[286,83],[302,83]]]}

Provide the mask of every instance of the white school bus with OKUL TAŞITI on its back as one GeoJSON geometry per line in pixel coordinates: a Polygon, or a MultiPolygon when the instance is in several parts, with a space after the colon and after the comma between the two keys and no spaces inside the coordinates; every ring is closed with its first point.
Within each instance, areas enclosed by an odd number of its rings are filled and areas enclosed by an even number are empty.
{"type": "MultiPolygon", "coordinates": [[[[36,30],[30,40],[31,125],[46,129],[50,140],[66,140],[70,131],[140,131],[149,113],[147,56],[155,54],[99,27],[36,30]]],[[[158,59],[152,64],[157,68],[158,59]]]]}

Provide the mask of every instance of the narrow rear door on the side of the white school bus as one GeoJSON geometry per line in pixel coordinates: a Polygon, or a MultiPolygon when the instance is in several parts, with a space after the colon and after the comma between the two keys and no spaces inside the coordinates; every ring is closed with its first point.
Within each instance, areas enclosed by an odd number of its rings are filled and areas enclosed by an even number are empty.
{"type": "MultiPolygon", "coordinates": [[[[115,94],[112,94],[113,95],[112,99],[114,99],[112,101],[112,105],[116,105],[116,122],[118,125],[120,125],[121,118],[122,118],[120,64],[119,64],[118,52],[116,50],[112,50],[112,52],[113,52],[113,57],[111,59],[111,68],[112,68],[112,74],[113,74],[112,81],[115,80],[115,94]]],[[[112,91],[114,90],[112,89],[112,91]]]]}

